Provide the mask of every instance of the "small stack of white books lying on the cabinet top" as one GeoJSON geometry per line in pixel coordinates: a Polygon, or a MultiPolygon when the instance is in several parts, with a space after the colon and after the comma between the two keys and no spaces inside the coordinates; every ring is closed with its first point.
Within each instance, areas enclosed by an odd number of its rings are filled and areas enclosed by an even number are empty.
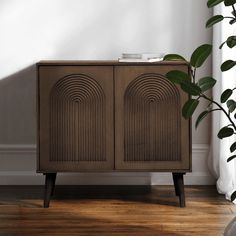
{"type": "Polygon", "coordinates": [[[163,57],[163,53],[122,53],[119,62],[157,62],[163,57]]]}

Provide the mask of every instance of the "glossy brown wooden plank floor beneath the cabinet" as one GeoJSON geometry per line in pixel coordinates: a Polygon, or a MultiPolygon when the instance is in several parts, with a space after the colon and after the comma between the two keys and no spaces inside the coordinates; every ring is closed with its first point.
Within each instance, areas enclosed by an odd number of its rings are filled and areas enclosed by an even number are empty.
{"type": "Polygon", "coordinates": [[[223,235],[236,206],[215,188],[186,187],[186,208],[173,186],[57,186],[50,208],[43,187],[0,186],[0,235],[223,235]]]}

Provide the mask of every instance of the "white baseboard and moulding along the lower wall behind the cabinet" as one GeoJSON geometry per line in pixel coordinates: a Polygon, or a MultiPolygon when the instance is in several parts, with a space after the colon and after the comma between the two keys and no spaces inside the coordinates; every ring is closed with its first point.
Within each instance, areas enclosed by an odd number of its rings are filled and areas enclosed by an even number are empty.
{"type": "MultiPolygon", "coordinates": [[[[215,179],[207,169],[209,146],[194,144],[193,172],[185,176],[186,185],[211,185],[215,179]]],[[[36,174],[35,145],[0,145],[0,185],[42,185],[42,174],[36,174]]],[[[69,185],[172,185],[170,173],[61,173],[57,184],[69,185]]]]}

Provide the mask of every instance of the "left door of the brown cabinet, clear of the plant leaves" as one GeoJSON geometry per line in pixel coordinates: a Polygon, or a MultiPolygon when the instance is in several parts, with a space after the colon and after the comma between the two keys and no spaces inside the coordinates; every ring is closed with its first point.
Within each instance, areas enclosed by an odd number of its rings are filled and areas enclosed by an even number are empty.
{"type": "Polygon", "coordinates": [[[114,168],[113,67],[38,67],[38,171],[114,168]]]}

